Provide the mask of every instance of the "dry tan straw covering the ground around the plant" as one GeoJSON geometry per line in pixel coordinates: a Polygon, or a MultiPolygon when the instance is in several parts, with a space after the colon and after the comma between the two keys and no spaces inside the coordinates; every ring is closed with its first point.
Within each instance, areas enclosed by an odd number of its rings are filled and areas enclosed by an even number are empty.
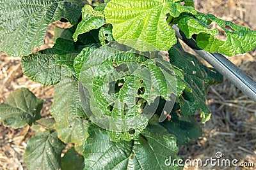
{"type": "MultiPolygon", "coordinates": [[[[245,25],[256,30],[255,0],[197,0],[196,8],[204,13],[245,25]],[[255,8],[253,8],[255,6],[255,8]]],[[[51,38],[53,25],[47,29],[45,45],[53,45],[51,38]]],[[[36,49],[35,49],[36,50],[36,49]]],[[[256,51],[230,57],[245,73],[256,80],[256,51]]],[[[26,87],[44,99],[42,116],[49,116],[52,104],[53,88],[29,80],[22,74],[20,58],[0,54],[0,103],[13,90],[26,87]]],[[[221,85],[212,86],[207,96],[207,104],[212,111],[212,118],[202,124],[203,136],[195,143],[181,146],[179,155],[184,159],[215,158],[216,152],[223,154],[223,159],[237,159],[239,162],[253,162],[253,167],[185,167],[185,169],[255,169],[256,168],[256,104],[244,96],[240,90],[225,79],[221,85]]],[[[200,118],[198,118],[200,122],[200,118]]],[[[26,142],[35,135],[28,126],[12,129],[0,124],[0,170],[27,169],[22,154],[26,142]]]]}

